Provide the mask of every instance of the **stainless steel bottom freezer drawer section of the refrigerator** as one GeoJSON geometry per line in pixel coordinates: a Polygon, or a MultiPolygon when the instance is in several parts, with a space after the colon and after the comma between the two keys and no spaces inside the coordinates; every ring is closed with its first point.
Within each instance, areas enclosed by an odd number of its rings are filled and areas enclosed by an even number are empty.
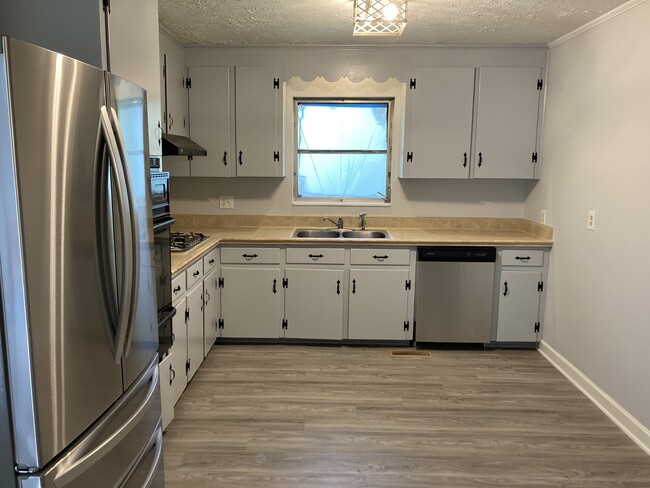
{"type": "MultiPolygon", "coordinates": [[[[19,479],[21,488],[113,488],[160,478],[162,453],[158,358],[73,448],[41,476],[19,479]],[[145,465],[149,463],[148,467],[145,465]],[[143,474],[144,472],[144,474],[143,474]],[[123,484],[124,483],[124,484],[123,484]]],[[[143,485],[138,485],[143,486],[143,485]]],[[[161,483],[148,486],[161,487],[161,483]]]]}

